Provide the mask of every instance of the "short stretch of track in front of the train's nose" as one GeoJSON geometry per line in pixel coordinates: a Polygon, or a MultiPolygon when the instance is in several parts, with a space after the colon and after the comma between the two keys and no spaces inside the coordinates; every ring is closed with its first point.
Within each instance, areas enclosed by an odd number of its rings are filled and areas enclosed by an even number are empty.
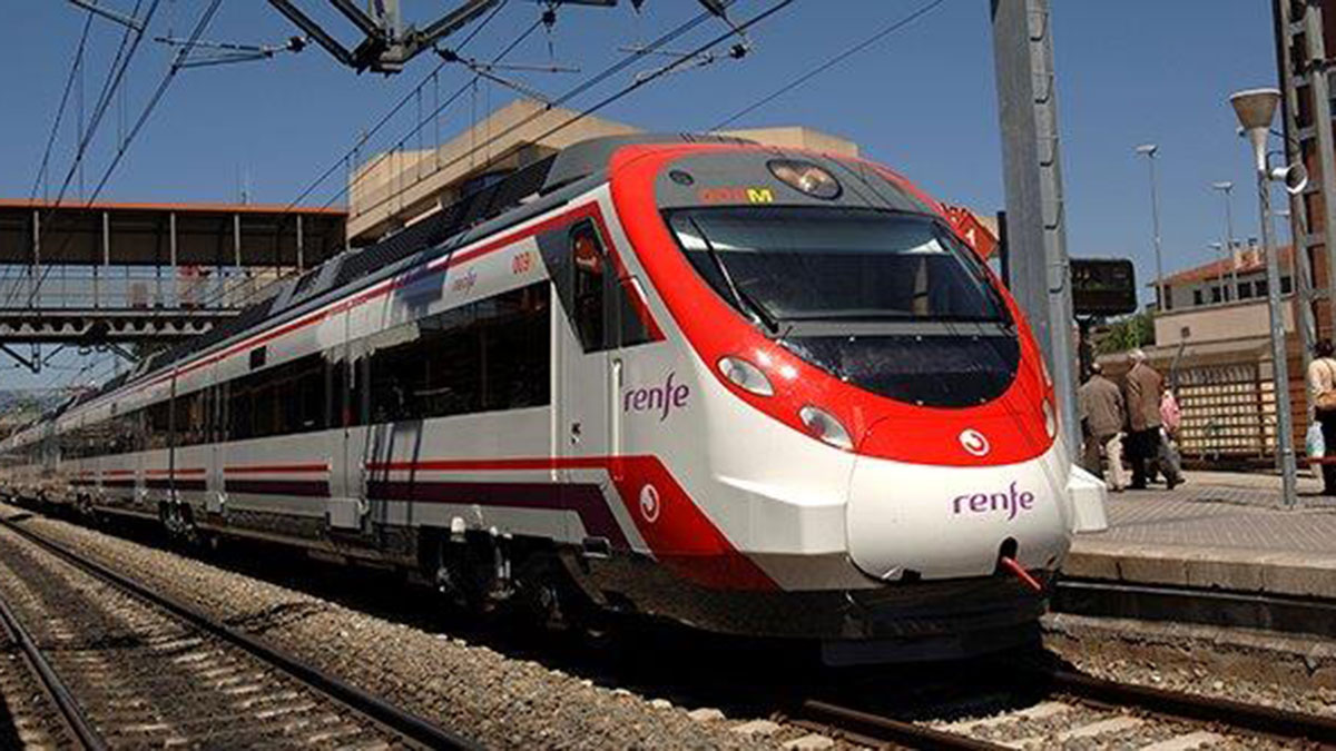
{"type": "Polygon", "coordinates": [[[1018,684],[1026,688],[1025,695],[1041,699],[951,722],[911,720],[812,699],[782,719],[874,747],[896,744],[953,751],[1336,748],[1333,718],[1118,683],[1066,669],[1033,665],[1002,665],[999,669],[1011,669],[1018,684]]]}

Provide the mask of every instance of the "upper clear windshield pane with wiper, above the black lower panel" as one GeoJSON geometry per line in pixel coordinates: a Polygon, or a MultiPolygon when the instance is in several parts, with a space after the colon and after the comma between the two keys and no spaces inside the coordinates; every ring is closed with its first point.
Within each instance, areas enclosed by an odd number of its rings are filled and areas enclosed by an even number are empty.
{"type": "Polygon", "coordinates": [[[927,215],[748,207],[679,211],[671,220],[696,271],[752,315],[1006,318],[973,253],[927,215]]]}

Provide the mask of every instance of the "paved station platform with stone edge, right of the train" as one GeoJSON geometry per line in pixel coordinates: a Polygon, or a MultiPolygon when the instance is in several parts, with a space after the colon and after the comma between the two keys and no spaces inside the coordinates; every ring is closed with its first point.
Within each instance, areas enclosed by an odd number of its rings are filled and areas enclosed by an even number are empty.
{"type": "Polygon", "coordinates": [[[1077,537],[1054,609],[1336,636],[1336,497],[1320,488],[1301,474],[1292,509],[1275,474],[1110,493],[1109,529],[1077,537]]]}

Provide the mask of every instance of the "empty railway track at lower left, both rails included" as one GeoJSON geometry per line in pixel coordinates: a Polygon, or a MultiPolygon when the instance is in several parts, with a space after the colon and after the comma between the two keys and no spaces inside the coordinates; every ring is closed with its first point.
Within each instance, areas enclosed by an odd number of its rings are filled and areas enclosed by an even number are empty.
{"type": "Polygon", "coordinates": [[[8,660],[0,683],[37,683],[48,704],[35,743],[476,747],[8,520],[0,621],[0,645],[29,668],[8,660]]]}

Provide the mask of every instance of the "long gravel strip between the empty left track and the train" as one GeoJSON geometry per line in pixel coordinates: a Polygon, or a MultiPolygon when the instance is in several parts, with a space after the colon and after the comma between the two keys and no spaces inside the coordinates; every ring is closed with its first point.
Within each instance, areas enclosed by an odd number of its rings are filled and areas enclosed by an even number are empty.
{"type": "MultiPolygon", "coordinates": [[[[0,504],[0,516],[24,513],[0,504]]],[[[23,522],[489,748],[779,748],[810,731],[732,728],[486,645],[390,623],[200,560],[33,516],[23,522]]],[[[424,593],[426,596],[426,593],[424,593]]]]}

